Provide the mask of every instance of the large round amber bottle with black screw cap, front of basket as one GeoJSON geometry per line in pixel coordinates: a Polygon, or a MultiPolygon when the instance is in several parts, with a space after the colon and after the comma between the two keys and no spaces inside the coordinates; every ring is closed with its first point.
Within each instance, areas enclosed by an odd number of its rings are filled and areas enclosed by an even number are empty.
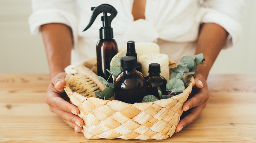
{"type": "Polygon", "coordinates": [[[124,56],[120,61],[123,71],[117,75],[114,82],[116,100],[132,104],[142,102],[146,95],[147,83],[143,74],[136,70],[136,57],[124,56]]]}

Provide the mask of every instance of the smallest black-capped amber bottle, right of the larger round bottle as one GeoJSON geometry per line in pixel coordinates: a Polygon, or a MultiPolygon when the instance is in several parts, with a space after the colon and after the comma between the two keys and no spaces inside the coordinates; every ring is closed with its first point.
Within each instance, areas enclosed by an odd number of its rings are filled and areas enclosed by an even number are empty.
{"type": "Polygon", "coordinates": [[[162,90],[162,95],[167,95],[166,89],[166,79],[160,75],[160,64],[152,63],[148,66],[149,75],[145,77],[147,81],[147,93],[146,95],[154,95],[160,99],[157,87],[162,90]]]}

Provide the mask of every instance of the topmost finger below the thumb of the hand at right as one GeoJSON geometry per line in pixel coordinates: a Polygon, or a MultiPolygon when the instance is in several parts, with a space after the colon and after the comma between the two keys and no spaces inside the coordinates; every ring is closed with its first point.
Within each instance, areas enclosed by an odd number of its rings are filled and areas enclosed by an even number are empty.
{"type": "Polygon", "coordinates": [[[203,102],[207,101],[209,99],[209,96],[210,95],[207,88],[200,89],[196,95],[194,95],[183,104],[182,110],[187,111],[193,107],[199,106],[203,102]]]}

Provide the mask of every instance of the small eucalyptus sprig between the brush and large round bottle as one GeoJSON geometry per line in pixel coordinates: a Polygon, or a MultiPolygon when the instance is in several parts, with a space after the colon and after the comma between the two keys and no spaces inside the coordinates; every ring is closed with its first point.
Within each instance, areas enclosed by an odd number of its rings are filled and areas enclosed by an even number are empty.
{"type": "MultiPolygon", "coordinates": [[[[116,60],[116,63],[118,65],[118,67],[120,67],[120,61],[118,60],[117,57],[115,57],[115,60],[116,60]]],[[[108,77],[108,80],[109,78],[114,75],[114,76],[117,76],[121,71],[120,69],[116,67],[116,66],[112,66],[110,67],[110,69],[107,71],[110,73],[110,76],[108,77]]],[[[103,77],[101,76],[98,76],[97,77],[98,80],[105,85],[105,89],[103,89],[101,92],[95,92],[95,94],[98,96],[98,97],[101,97],[103,98],[104,100],[105,99],[109,99],[111,98],[112,96],[114,96],[114,84],[113,83],[110,83],[108,82],[108,80],[105,80],[103,77]],[[108,87],[107,87],[108,86],[108,87]]]]}

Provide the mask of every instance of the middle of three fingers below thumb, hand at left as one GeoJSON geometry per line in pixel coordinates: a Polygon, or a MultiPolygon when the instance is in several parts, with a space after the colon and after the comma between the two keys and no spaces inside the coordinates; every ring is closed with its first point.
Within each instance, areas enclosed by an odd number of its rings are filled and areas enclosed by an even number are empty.
{"type": "Polygon", "coordinates": [[[69,112],[66,112],[66,111],[62,111],[56,107],[53,107],[53,106],[49,106],[50,110],[54,113],[56,113],[61,119],[64,119],[66,121],[69,121],[73,124],[76,124],[77,126],[79,127],[82,127],[83,124],[84,124],[84,121],[79,118],[78,116],[74,115],[74,114],[71,114],[69,112]]]}

